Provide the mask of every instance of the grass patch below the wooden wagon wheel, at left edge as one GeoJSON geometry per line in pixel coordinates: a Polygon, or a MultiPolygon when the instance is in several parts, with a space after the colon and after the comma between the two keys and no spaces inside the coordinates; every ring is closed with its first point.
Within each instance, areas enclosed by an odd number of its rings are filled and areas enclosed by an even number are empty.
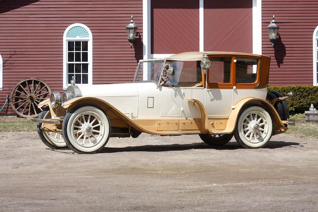
{"type": "Polygon", "coordinates": [[[0,117],[0,132],[36,132],[36,123],[18,117],[0,117]]]}

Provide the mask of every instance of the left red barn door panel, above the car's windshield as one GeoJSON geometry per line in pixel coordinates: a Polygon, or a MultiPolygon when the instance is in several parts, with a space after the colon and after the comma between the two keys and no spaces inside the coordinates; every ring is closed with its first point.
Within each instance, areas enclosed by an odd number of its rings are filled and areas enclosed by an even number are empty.
{"type": "Polygon", "coordinates": [[[152,54],[199,51],[199,0],[152,0],[152,54]]]}

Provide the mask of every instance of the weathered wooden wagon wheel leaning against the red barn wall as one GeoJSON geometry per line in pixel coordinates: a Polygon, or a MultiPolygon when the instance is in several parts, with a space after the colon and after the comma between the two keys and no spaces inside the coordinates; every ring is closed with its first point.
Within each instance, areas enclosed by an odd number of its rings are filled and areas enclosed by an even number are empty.
{"type": "Polygon", "coordinates": [[[12,89],[10,104],[19,116],[35,118],[42,111],[42,108],[38,108],[39,103],[50,95],[51,89],[44,81],[28,78],[17,83],[12,89]]]}

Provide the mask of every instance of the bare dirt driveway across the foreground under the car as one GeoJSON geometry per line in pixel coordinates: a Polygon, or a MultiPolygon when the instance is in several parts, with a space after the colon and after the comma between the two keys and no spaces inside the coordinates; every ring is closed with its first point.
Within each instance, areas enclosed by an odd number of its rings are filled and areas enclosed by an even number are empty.
{"type": "Polygon", "coordinates": [[[0,133],[0,211],[317,211],[318,141],[265,148],[198,136],[111,138],[98,154],[0,133]]]}

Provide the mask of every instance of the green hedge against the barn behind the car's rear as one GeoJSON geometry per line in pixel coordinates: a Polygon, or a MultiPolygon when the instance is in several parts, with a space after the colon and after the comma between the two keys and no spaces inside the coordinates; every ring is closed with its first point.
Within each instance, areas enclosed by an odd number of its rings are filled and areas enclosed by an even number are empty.
{"type": "Polygon", "coordinates": [[[276,90],[285,96],[289,92],[293,95],[287,98],[291,115],[305,113],[311,104],[318,109],[318,86],[293,85],[293,86],[269,86],[268,91],[276,90]]]}

